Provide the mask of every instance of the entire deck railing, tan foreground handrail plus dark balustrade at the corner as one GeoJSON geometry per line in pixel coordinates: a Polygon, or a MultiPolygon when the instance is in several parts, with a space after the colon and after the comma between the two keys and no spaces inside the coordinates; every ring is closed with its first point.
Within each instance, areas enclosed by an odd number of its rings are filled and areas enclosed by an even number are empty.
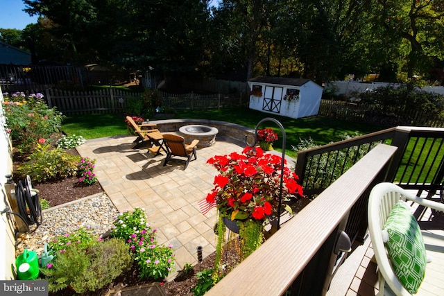
{"type": "Polygon", "coordinates": [[[339,234],[366,237],[373,186],[394,182],[432,198],[444,182],[443,146],[444,128],[397,127],[301,151],[296,173],[316,198],[207,295],[325,295],[345,257],[335,251],[339,234]]]}

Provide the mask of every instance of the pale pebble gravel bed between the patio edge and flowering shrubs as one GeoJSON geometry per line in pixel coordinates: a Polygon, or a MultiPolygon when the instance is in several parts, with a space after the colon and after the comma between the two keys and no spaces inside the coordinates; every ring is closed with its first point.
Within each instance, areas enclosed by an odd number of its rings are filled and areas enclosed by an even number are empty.
{"type": "Polygon", "coordinates": [[[43,223],[31,225],[31,232],[20,234],[15,243],[15,255],[24,249],[33,250],[40,256],[44,244],[59,235],[67,234],[79,227],[89,227],[94,234],[105,234],[112,228],[114,218],[119,214],[105,193],[91,195],[67,204],[61,204],[42,211],[43,223]]]}

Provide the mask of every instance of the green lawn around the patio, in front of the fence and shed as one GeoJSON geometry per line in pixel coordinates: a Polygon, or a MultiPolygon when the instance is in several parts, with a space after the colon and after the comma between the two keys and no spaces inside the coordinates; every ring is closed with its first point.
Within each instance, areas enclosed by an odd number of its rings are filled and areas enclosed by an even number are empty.
{"type": "MultiPolygon", "coordinates": [[[[302,119],[291,119],[289,117],[266,114],[247,107],[237,107],[221,110],[197,110],[181,111],[176,114],[178,119],[211,119],[217,121],[228,121],[255,128],[257,123],[266,117],[278,120],[286,132],[286,154],[294,157],[296,152],[291,146],[300,143],[300,139],[311,139],[319,145],[332,141],[340,141],[341,134],[350,135],[368,134],[383,128],[368,123],[355,123],[333,119],[326,116],[310,116],[302,119]]],[[[259,128],[273,128],[280,139],[273,144],[276,150],[282,150],[282,132],[272,121],[263,123],[259,128]]],[[[129,134],[124,123],[124,116],[114,114],[93,114],[67,116],[63,121],[62,130],[67,134],[78,134],[85,139],[100,137],[111,137],[118,134],[129,134]]],[[[243,140],[243,139],[242,139],[243,140]]]]}

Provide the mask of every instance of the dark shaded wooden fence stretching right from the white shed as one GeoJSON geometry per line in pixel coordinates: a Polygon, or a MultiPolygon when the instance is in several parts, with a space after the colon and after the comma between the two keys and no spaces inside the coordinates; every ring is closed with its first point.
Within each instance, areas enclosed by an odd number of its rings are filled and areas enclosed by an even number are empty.
{"type": "Polygon", "coordinates": [[[444,127],[444,120],[418,110],[393,110],[387,112],[384,107],[374,105],[346,103],[343,101],[321,100],[319,115],[336,119],[373,123],[386,127],[396,125],[444,127]]]}

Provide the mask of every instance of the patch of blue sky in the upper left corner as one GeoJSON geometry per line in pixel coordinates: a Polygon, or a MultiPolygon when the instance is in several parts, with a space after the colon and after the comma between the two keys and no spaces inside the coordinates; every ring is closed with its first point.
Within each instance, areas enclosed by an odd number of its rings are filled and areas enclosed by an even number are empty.
{"type": "Polygon", "coordinates": [[[30,17],[22,11],[24,8],[22,0],[0,0],[0,28],[23,30],[28,24],[36,24],[37,15],[30,17]]]}

